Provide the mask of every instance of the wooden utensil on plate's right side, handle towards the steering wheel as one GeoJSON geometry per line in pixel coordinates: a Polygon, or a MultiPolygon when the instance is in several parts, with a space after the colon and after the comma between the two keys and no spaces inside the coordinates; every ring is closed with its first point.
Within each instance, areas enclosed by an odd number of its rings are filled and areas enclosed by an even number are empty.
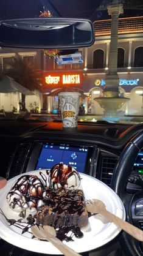
{"type": "Polygon", "coordinates": [[[100,213],[102,216],[106,217],[106,219],[113,222],[118,227],[122,228],[125,232],[136,238],[137,240],[143,242],[143,232],[137,227],[134,227],[130,223],[125,220],[120,219],[115,216],[113,213],[110,213],[106,210],[105,205],[102,201],[97,199],[86,200],[86,208],[89,213],[100,213]]]}

